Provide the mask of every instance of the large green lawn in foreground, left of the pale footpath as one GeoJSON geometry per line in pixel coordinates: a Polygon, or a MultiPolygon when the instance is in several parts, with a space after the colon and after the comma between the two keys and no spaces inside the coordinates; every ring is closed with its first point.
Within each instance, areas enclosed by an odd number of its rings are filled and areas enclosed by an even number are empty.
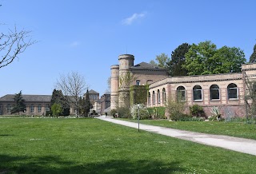
{"type": "Polygon", "coordinates": [[[0,173],[253,173],[256,156],[97,119],[0,119],[0,173]]]}

